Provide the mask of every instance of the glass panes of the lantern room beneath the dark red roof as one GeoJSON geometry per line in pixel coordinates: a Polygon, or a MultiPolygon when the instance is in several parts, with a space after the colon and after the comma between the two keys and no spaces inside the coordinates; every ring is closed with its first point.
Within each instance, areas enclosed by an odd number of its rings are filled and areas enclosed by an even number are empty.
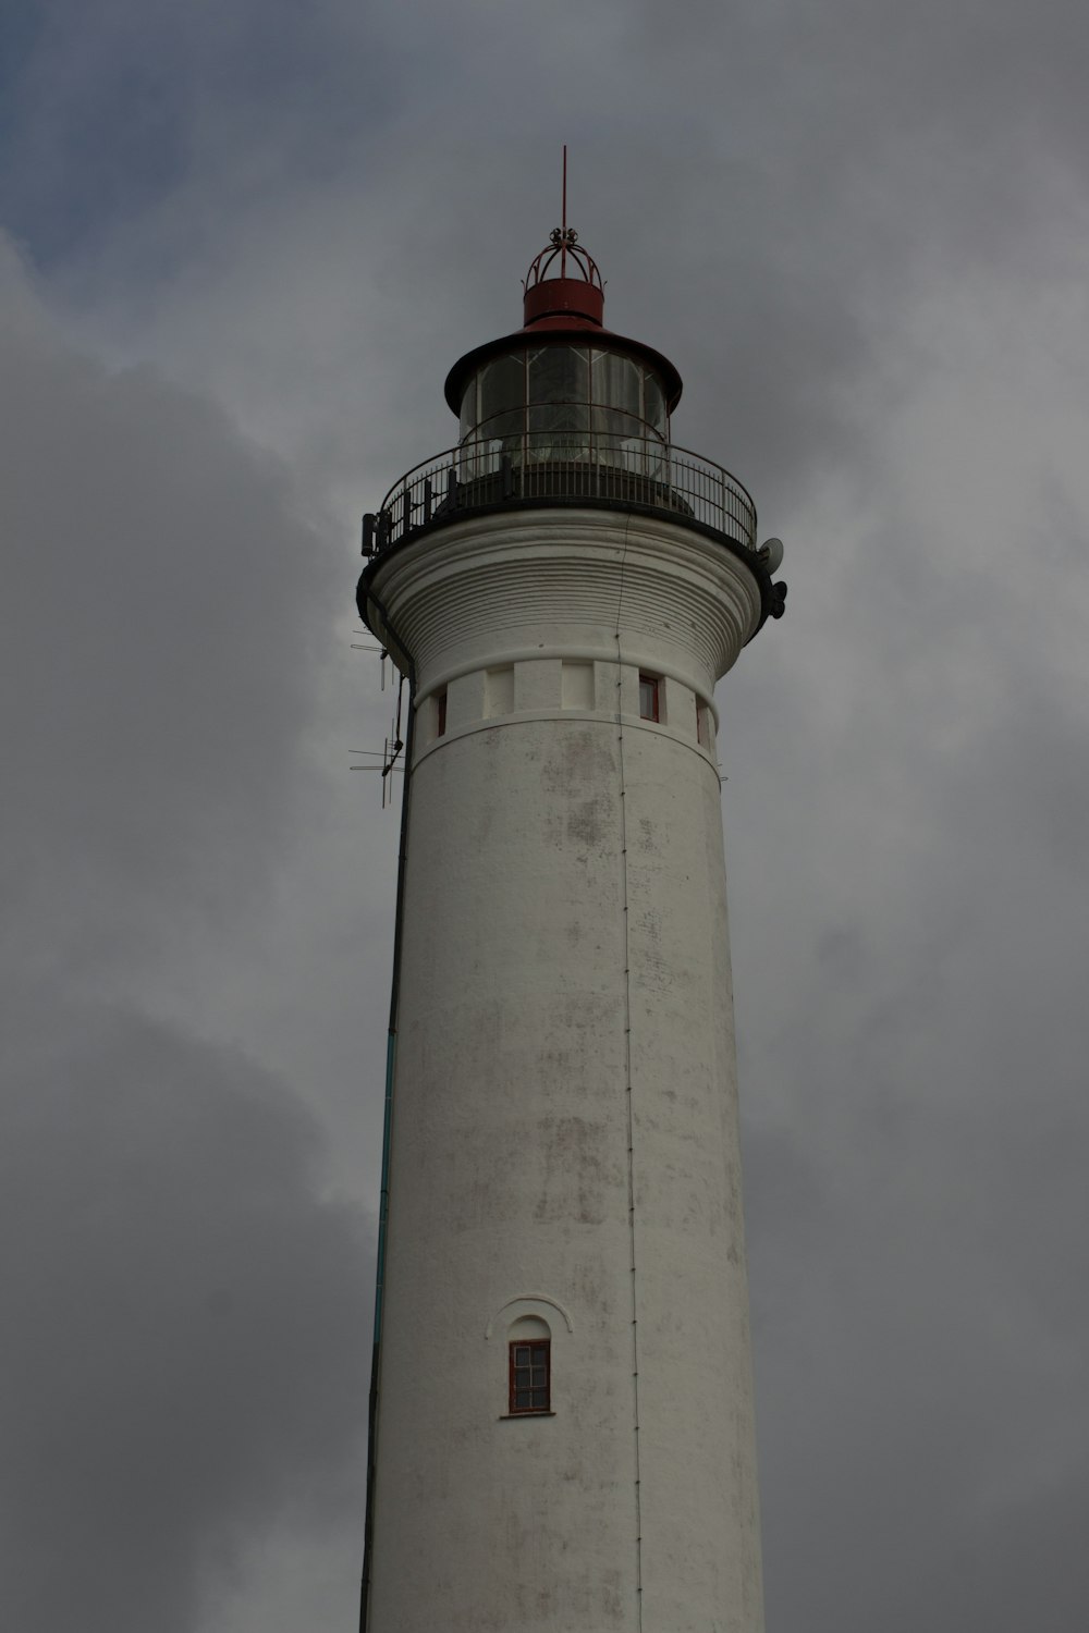
{"type": "Polygon", "coordinates": [[[588,464],[656,477],[669,415],[660,377],[606,346],[536,345],[483,363],[460,402],[460,477],[588,464]]]}

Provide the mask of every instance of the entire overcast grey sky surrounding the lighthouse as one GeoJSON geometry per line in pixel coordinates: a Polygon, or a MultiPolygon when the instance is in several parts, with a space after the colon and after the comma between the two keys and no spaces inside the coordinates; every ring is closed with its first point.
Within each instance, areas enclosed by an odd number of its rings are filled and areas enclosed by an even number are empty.
{"type": "Polygon", "coordinates": [[[1076,0],[8,0],[0,1625],[354,1626],[358,523],[558,214],[789,614],[720,687],[769,1633],[1089,1615],[1076,0]]]}

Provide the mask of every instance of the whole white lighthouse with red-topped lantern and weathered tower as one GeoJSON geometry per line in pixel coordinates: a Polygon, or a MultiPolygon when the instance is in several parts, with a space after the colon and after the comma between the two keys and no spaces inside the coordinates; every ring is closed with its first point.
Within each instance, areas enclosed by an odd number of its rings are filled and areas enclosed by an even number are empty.
{"type": "Polygon", "coordinates": [[[366,519],[408,678],[362,1625],[759,1633],[715,681],[777,541],[562,227],[366,519]]]}

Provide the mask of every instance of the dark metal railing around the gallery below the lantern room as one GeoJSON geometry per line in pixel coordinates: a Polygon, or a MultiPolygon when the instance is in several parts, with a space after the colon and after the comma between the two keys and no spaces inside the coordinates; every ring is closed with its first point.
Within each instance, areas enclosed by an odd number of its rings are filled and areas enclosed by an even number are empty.
{"type": "Polygon", "coordinates": [[[722,465],[658,438],[557,429],[460,443],[415,465],[366,518],[364,554],[503,505],[661,511],[756,550],[753,496],[722,465]]]}

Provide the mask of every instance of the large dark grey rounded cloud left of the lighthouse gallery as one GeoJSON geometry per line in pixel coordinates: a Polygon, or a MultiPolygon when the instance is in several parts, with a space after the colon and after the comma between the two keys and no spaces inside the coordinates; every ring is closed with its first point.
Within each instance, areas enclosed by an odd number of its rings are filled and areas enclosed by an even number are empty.
{"type": "Polygon", "coordinates": [[[116,887],[216,911],[268,869],[328,565],[219,410],[65,348],[8,281],[5,869],[56,949],[116,887]]]}

